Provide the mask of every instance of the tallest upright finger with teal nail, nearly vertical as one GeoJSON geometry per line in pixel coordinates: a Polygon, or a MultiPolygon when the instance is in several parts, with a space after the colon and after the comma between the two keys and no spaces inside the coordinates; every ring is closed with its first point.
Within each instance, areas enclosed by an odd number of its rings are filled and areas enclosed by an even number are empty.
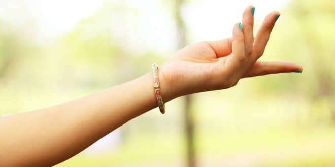
{"type": "Polygon", "coordinates": [[[243,13],[243,19],[242,19],[245,53],[247,56],[251,55],[252,53],[252,45],[254,41],[254,35],[253,35],[254,12],[255,7],[248,6],[243,13]]]}

